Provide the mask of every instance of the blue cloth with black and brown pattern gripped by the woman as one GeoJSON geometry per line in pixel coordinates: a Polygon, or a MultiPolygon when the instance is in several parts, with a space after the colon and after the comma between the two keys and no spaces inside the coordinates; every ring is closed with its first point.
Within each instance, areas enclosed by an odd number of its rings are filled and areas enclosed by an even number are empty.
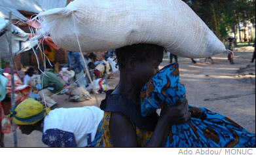
{"type": "MultiPolygon", "coordinates": [[[[167,65],[143,86],[141,114],[148,116],[164,105],[175,106],[186,99],[179,83],[177,63],[167,65]]],[[[191,119],[173,124],[164,146],[168,147],[255,147],[255,134],[249,133],[229,118],[204,107],[189,105],[191,119]]]]}

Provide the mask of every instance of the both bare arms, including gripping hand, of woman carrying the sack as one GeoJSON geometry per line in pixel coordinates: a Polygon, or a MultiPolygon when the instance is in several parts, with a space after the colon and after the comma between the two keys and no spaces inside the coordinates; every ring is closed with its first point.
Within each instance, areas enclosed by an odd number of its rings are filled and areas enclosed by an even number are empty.
{"type": "MultiPolygon", "coordinates": [[[[175,107],[165,106],[153,135],[145,147],[162,147],[173,123],[184,123],[190,118],[187,100],[175,107]]],[[[114,147],[137,147],[136,130],[130,119],[120,112],[112,112],[109,120],[111,142],[114,147]]]]}

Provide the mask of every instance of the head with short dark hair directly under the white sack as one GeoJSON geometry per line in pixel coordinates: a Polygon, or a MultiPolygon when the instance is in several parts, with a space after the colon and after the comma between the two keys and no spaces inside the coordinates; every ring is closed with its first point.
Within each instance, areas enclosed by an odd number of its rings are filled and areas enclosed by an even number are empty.
{"type": "Polygon", "coordinates": [[[115,50],[120,73],[129,74],[138,90],[158,71],[164,48],[155,44],[133,44],[115,50]]]}

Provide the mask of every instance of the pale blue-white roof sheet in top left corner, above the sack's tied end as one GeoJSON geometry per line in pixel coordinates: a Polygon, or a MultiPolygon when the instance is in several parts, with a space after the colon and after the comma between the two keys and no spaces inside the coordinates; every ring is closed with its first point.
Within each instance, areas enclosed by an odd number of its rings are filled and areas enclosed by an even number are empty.
{"type": "Polygon", "coordinates": [[[0,17],[9,18],[12,11],[12,19],[27,20],[18,10],[39,13],[48,9],[65,7],[67,0],[0,0],[0,17]]]}

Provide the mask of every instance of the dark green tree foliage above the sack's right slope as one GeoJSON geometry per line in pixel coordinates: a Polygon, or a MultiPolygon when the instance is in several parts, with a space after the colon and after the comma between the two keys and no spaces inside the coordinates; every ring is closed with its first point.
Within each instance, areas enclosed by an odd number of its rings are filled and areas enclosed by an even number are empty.
{"type": "Polygon", "coordinates": [[[228,31],[238,33],[238,24],[255,26],[255,0],[183,0],[210,29],[224,40],[228,31]]]}

